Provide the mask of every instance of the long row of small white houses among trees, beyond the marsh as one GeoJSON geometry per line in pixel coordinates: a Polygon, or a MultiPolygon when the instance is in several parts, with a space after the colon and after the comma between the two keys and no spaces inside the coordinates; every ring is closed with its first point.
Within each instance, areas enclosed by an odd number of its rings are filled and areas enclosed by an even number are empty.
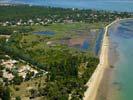
{"type": "Polygon", "coordinates": [[[71,15],[66,14],[60,15],[47,15],[47,16],[40,16],[40,17],[31,17],[31,18],[20,18],[16,20],[7,20],[7,21],[1,21],[0,26],[28,26],[28,25],[48,25],[51,23],[73,23],[73,22],[99,22],[99,21],[112,21],[116,18],[124,18],[129,17],[131,14],[124,14],[124,13],[106,13],[106,12],[74,12],[71,15]]]}

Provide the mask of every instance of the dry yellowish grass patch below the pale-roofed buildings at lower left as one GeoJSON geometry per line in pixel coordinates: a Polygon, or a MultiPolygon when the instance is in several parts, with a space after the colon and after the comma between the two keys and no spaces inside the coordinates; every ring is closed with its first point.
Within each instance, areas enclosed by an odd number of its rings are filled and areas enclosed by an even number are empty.
{"type": "Polygon", "coordinates": [[[30,90],[44,87],[46,85],[45,79],[45,77],[39,77],[23,82],[21,85],[10,85],[12,98],[21,96],[22,99],[29,100],[30,90]]]}

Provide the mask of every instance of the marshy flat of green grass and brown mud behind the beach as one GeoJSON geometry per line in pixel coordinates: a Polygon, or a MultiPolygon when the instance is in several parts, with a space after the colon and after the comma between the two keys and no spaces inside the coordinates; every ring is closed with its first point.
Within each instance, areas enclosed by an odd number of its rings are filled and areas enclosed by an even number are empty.
{"type": "Polygon", "coordinates": [[[46,49],[47,44],[67,44],[68,46],[75,47],[82,45],[84,40],[89,41],[90,50],[95,45],[98,32],[107,23],[56,23],[48,26],[31,26],[33,29],[29,34],[23,35],[21,43],[23,48],[27,49],[46,49]],[[54,35],[40,35],[33,34],[33,32],[54,32],[54,35]]]}

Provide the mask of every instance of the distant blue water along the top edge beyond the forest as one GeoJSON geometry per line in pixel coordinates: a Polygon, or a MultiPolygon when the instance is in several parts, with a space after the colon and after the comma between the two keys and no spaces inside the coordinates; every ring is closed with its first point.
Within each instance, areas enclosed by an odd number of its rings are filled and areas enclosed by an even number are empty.
{"type": "Polygon", "coordinates": [[[63,8],[85,8],[133,12],[133,0],[1,0],[63,8]]]}

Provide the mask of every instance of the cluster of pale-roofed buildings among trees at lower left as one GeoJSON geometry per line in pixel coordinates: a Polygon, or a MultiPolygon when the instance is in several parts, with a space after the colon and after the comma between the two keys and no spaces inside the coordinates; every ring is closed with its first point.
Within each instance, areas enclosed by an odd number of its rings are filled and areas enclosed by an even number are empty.
{"type": "Polygon", "coordinates": [[[23,80],[27,77],[28,73],[33,73],[31,78],[34,78],[38,74],[38,70],[30,66],[29,64],[22,63],[20,61],[12,59],[0,60],[0,76],[3,80],[12,81],[16,75],[22,77],[23,80]]]}

